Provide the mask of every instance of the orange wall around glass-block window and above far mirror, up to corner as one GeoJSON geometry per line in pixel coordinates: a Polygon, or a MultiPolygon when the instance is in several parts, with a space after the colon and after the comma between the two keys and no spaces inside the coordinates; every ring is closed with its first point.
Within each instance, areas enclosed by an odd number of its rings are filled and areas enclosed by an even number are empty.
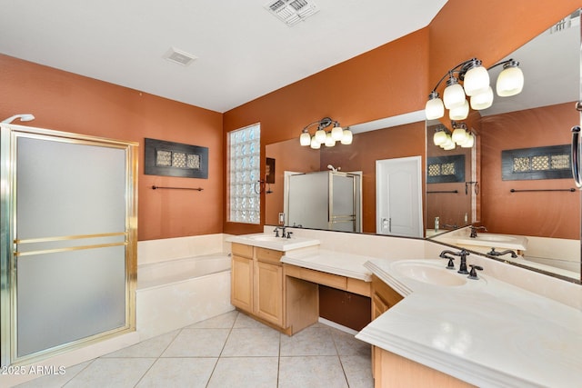
{"type": "MultiPolygon", "coordinates": [[[[297,138],[325,116],[346,126],[417,110],[427,94],[427,54],[425,28],[241,105],[225,113],[225,144],[227,132],[260,122],[264,154],[265,144],[297,138]]],[[[265,196],[261,206],[264,222],[265,196]]],[[[262,227],[225,222],[226,233],[256,231],[262,227]]]]}

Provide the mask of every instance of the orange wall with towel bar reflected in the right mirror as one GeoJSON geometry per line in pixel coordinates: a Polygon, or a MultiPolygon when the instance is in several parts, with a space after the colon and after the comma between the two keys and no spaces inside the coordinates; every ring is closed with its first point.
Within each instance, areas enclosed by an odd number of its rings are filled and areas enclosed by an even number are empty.
{"type": "Polygon", "coordinates": [[[574,181],[571,178],[503,181],[498,151],[569,144],[569,129],[578,122],[574,103],[487,116],[481,120],[482,212],[483,224],[489,232],[579,238],[579,217],[572,216],[580,214],[578,192],[510,192],[512,188],[566,189],[574,187],[574,181]]]}

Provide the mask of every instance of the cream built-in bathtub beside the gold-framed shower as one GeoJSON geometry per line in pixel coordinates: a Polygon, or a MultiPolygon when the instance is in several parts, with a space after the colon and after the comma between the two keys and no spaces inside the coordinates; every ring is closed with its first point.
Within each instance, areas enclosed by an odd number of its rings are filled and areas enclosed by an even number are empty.
{"type": "Polygon", "coordinates": [[[140,341],[234,310],[229,254],[137,265],[135,324],[140,341]]]}

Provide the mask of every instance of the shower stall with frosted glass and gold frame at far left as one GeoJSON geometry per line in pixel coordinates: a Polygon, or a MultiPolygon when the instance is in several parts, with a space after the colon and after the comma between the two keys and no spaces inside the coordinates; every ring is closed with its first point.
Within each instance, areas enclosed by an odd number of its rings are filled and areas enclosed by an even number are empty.
{"type": "Polygon", "coordinates": [[[2,365],[134,331],[137,144],[0,130],[2,365]]]}

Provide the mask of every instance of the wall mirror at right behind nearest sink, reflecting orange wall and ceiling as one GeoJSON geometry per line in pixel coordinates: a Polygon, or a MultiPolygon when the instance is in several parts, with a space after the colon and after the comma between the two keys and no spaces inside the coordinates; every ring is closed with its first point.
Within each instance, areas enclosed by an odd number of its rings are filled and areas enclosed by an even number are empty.
{"type": "MultiPolygon", "coordinates": [[[[486,254],[496,246],[497,253],[514,248],[522,251],[522,256],[514,259],[507,254],[504,260],[580,279],[580,194],[575,190],[569,155],[570,129],[580,123],[576,110],[580,93],[579,16],[579,12],[567,15],[507,58],[500,58],[520,62],[526,79],[523,92],[496,96],[493,105],[480,111],[477,119],[469,117],[477,133],[477,147],[472,150],[476,165],[467,164],[467,182],[427,184],[427,193],[443,192],[427,194],[429,230],[438,215],[446,224],[463,224],[468,218],[469,223],[487,228],[484,239],[492,241],[481,244],[478,238],[471,239],[468,231],[460,237],[442,234],[443,228],[441,234],[429,238],[486,254]],[[458,194],[452,194],[454,190],[458,194]],[[526,237],[519,242],[525,249],[501,242],[514,236],[526,237]]],[[[497,79],[495,70],[490,72],[492,80],[497,79]]],[[[426,126],[427,160],[456,154],[470,158],[471,154],[460,147],[442,151],[433,144],[438,125],[429,122],[426,126]]]]}

